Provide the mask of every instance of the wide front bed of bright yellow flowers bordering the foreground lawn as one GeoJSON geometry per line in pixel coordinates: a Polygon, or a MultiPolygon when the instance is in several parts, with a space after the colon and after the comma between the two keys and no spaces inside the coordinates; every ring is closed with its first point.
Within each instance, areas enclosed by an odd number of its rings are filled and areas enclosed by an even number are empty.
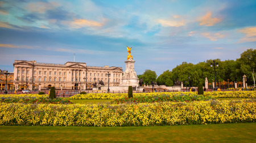
{"type": "Polygon", "coordinates": [[[256,99],[122,104],[0,103],[0,125],[148,126],[256,121],[256,99]]]}

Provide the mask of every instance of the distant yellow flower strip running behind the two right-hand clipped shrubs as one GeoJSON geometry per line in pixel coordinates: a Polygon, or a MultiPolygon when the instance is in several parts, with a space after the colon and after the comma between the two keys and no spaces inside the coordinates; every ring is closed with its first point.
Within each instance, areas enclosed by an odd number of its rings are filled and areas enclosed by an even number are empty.
{"type": "MultiPolygon", "coordinates": [[[[197,96],[197,92],[154,92],[154,93],[133,93],[133,97],[153,96],[197,96]]],[[[214,98],[256,98],[256,92],[204,92],[204,96],[214,98]]],[[[121,99],[127,97],[127,93],[88,93],[76,94],[70,99],[121,99]]]]}

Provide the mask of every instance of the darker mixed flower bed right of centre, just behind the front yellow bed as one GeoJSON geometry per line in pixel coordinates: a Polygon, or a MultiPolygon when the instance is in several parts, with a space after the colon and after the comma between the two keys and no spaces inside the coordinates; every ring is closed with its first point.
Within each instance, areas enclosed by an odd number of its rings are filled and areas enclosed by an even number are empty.
{"type": "Polygon", "coordinates": [[[168,94],[162,94],[159,96],[137,96],[133,98],[118,98],[114,99],[112,103],[125,103],[125,102],[134,102],[134,103],[152,103],[152,102],[191,102],[191,101],[207,101],[209,99],[214,99],[213,96],[203,96],[203,95],[192,95],[192,94],[178,94],[169,96],[168,94]]]}

